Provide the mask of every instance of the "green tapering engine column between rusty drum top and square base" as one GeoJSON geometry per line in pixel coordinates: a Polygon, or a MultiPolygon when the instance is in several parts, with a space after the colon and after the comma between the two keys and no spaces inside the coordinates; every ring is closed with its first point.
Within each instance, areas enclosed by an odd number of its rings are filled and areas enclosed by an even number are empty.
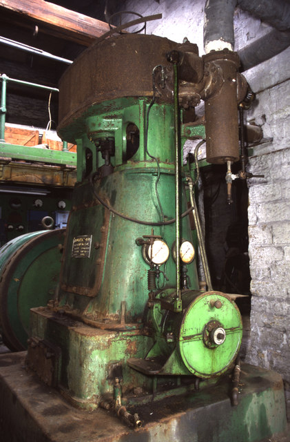
{"type": "MultiPolygon", "coordinates": [[[[74,191],[68,224],[61,271],[61,305],[85,311],[96,319],[120,320],[122,302],[125,302],[127,322],[141,320],[143,316],[148,300],[147,271],[150,267],[143,259],[142,247],[136,245],[136,238],[149,235],[153,228],[154,235],[162,236],[171,251],[174,248],[175,224],[151,225],[163,220],[158,198],[165,221],[175,218],[174,114],[169,104],[152,106],[146,148],[147,106],[148,99],[116,99],[92,106],[87,111],[89,116],[83,115],[81,119],[81,126],[87,131],[78,142],[78,173],[83,182],[74,191]],[[127,131],[132,125],[135,131],[138,130],[139,140],[130,156],[127,131]],[[110,158],[114,171],[95,180],[93,191],[90,177],[98,166],[102,169],[104,163],[101,153],[97,152],[102,137],[114,140],[115,151],[110,158]],[[89,164],[88,154],[92,159],[89,164]],[[152,157],[156,157],[158,166],[152,157]],[[127,219],[110,214],[94,193],[127,219]],[[76,248],[81,240],[87,242],[84,255],[76,248]]],[[[73,131],[74,127],[68,130],[73,131]]],[[[184,188],[182,197],[185,211],[184,188]]],[[[181,236],[192,241],[188,216],[181,223],[181,236]]],[[[163,285],[164,277],[160,276],[160,288],[176,287],[175,266],[170,253],[167,264],[160,267],[167,277],[163,285]]],[[[197,289],[196,262],[187,267],[191,287],[197,289]]]]}

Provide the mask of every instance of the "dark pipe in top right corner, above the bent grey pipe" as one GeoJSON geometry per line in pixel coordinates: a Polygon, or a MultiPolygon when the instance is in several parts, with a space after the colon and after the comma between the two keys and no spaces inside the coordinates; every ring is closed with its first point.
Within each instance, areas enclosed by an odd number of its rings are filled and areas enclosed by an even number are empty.
{"type": "Polygon", "coordinates": [[[290,3],[287,0],[238,0],[236,3],[241,9],[278,30],[290,29],[290,3]]]}

